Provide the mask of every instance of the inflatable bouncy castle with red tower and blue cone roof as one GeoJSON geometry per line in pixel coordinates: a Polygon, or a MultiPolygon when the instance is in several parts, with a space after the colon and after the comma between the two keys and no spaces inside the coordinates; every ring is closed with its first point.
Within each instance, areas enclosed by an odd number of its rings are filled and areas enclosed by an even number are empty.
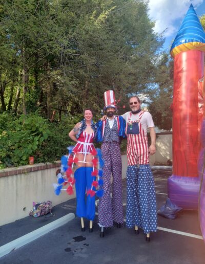
{"type": "Polygon", "coordinates": [[[168,180],[168,196],[183,209],[199,209],[205,238],[205,33],[192,5],[170,52],[174,58],[173,174],[168,180]]]}

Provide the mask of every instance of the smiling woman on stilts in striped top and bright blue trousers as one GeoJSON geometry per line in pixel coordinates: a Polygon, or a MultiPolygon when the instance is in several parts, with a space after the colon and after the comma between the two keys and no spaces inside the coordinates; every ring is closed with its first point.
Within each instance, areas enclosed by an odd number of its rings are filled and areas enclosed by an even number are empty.
{"type": "Polygon", "coordinates": [[[85,231],[84,217],[90,220],[89,232],[93,231],[95,188],[98,185],[96,182],[98,161],[94,158],[97,155],[97,151],[93,144],[97,128],[92,118],[92,109],[85,109],[84,119],[77,123],[69,133],[69,137],[76,142],[72,150],[73,160],[77,165],[74,172],[77,201],[76,214],[81,219],[82,231],[85,231]],[[85,197],[86,192],[87,199],[85,197]]]}

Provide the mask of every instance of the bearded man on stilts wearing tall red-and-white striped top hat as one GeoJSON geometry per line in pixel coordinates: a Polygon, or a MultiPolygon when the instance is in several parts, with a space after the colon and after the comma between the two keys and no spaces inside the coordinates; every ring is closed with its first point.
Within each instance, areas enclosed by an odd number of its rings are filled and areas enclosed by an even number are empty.
{"type": "Polygon", "coordinates": [[[125,138],[125,120],[120,116],[115,116],[117,109],[113,91],[104,93],[105,107],[107,114],[105,120],[99,120],[96,123],[99,133],[97,133],[97,142],[103,142],[101,145],[103,166],[103,189],[104,195],[99,199],[98,219],[100,226],[100,237],[104,237],[104,227],[112,227],[113,222],[117,227],[124,222],[122,205],[122,163],[120,153],[120,137],[125,138]],[[111,173],[113,178],[112,198],[111,173]]]}

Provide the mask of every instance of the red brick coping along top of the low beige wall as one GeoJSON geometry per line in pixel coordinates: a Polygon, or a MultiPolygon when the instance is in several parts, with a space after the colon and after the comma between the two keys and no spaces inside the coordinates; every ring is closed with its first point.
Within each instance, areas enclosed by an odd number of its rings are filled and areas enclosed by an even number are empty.
{"type": "Polygon", "coordinates": [[[18,175],[22,173],[28,173],[32,171],[38,171],[43,169],[51,169],[60,167],[61,161],[56,161],[55,163],[38,163],[33,165],[25,165],[19,167],[12,167],[12,168],[5,168],[0,169],[0,178],[1,177],[8,177],[13,175],[18,175]]]}

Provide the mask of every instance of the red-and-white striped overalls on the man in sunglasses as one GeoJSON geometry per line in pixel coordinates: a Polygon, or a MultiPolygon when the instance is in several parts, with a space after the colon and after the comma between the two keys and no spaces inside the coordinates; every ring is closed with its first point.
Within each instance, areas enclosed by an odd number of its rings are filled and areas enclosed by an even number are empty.
{"type": "Polygon", "coordinates": [[[126,134],[128,125],[134,122],[138,122],[139,125],[139,134],[128,134],[128,145],[127,145],[127,157],[128,165],[136,164],[149,164],[149,148],[148,148],[148,138],[145,133],[144,128],[142,127],[140,120],[144,112],[139,114],[139,117],[136,121],[131,121],[132,113],[130,112],[128,123],[126,125],[126,134]]]}

